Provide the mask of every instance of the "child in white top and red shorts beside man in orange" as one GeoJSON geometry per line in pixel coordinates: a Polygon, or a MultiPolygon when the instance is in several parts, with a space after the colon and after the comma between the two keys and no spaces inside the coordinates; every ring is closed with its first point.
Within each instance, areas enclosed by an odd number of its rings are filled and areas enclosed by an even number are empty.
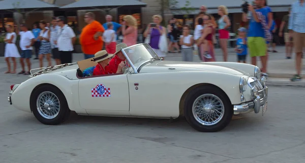
{"type": "Polygon", "coordinates": [[[105,42],[106,51],[109,54],[114,54],[116,47],[116,35],[111,22],[107,23],[107,29],[103,33],[103,39],[105,42]]]}

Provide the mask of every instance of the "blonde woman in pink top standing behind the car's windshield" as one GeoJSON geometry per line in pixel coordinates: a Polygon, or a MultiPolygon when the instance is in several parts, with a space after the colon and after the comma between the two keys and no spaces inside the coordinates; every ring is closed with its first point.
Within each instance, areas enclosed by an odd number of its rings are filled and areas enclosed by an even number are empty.
{"type": "Polygon", "coordinates": [[[122,23],[122,34],[124,36],[123,43],[127,46],[137,44],[138,39],[138,25],[137,19],[132,15],[126,15],[123,18],[124,22],[122,23]],[[128,28],[126,28],[128,26],[128,28]]]}

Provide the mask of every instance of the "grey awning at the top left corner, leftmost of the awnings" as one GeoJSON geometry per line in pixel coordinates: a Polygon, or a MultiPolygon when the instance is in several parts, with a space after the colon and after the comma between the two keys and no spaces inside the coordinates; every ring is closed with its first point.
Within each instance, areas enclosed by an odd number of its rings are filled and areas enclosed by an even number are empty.
{"type": "Polygon", "coordinates": [[[39,0],[3,0],[0,1],[0,10],[8,10],[11,12],[28,12],[38,10],[53,10],[58,6],[48,4],[39,0]]]}

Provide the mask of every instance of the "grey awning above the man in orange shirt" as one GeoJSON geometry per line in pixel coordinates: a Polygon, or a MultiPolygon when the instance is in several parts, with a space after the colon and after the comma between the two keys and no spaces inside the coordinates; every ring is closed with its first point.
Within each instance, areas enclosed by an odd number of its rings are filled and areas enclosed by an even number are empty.
{"type": "Polygon", "coordinates": [[[78,2],[60,7],[60,9],[91,10],[110,9],[123,6],[146,7],[146,4],[136,0],[80,0],[78,2]]]}

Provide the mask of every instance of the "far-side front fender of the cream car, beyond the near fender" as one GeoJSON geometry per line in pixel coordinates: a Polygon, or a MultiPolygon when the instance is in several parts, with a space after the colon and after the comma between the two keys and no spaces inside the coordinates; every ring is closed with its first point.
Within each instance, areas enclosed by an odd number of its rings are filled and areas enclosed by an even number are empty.
{"type": "Polygon", "coordinates": [[[252,64],[238,63],[238,62],[200,62],[200,63],[224,66],[241,71],[248,76],[254,76],[255,66],[252,64]]]}

